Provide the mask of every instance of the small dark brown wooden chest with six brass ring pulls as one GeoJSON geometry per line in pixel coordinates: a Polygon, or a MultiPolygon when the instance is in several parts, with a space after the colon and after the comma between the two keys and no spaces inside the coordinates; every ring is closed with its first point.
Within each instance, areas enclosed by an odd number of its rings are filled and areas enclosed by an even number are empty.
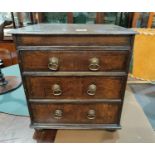
{"type": "Polygon", "coordinates": [[[36,131],[120,128],[135,32],[38,24],[12,31],[36,131]]]}

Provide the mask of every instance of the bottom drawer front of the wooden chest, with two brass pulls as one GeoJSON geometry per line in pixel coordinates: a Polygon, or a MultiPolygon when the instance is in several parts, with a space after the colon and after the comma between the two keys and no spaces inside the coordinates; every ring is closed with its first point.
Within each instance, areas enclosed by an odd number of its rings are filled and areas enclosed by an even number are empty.
{"type": "Polygon", "coordinates": [[[31,110],[35,123],[116,124],[118,123],[121,104],[32,103],[31,110]]]}

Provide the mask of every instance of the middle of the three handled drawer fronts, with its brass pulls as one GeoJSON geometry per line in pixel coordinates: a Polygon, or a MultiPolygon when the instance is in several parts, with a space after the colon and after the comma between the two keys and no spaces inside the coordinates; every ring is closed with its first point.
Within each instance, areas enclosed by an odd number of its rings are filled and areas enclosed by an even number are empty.
{"type": "Polygon", "coordinates": [[[121,99],[125,77],[26,77],[29,98],[121,99]]]}

